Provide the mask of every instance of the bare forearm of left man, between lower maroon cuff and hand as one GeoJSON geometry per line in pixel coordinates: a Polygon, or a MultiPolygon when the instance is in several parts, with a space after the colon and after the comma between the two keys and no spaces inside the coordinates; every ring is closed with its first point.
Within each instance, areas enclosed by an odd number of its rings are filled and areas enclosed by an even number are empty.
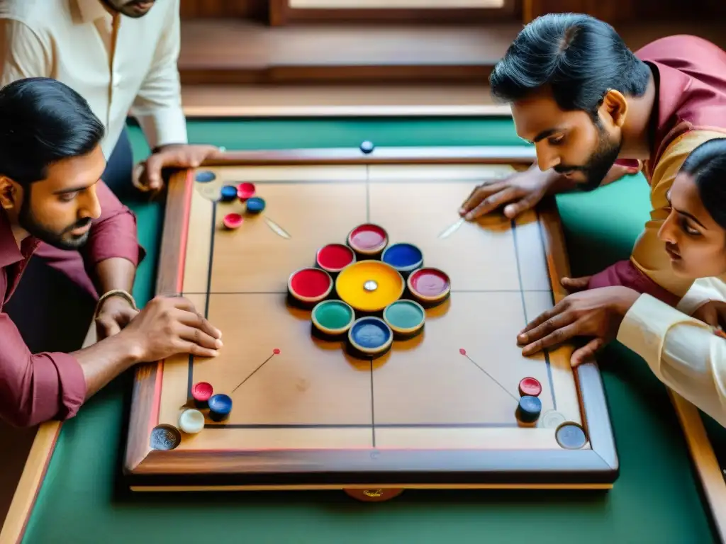
{"type": "Polygon", "coordinates": [[[97,342],[71,353],[86,379],[86,400],[105,387],[111,380],[139,362],[138,348],[123,334],[97,342]]]}

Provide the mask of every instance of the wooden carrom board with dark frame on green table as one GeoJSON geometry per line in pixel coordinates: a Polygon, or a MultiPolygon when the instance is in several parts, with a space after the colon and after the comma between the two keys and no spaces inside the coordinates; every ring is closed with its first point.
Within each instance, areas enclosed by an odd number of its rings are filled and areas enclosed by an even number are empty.
{"type": "Polygon", "coordinates": [[[375,498],[406,487],[611,487],[618,461],[597,366],[573,370],[571,346],[526,358],[515,341],[563,296],[552,287],[567,273],[554,205],[515,221],[457,213],[478,184],[529,164],[528,153],[229,152],[174,175],[158,292],[191,300],[224,347],[216,358],[137,371],[131,488],[338,488],[375,498]],[[219,200],[222,186],[240,184],[264,199],[261,212],[219,200]],[[225,226],[229,213],[242,223],[225,226]],[[311,334],[311,310],[288,297],[291,274],[366,223],[385,229],[388,244],[415,244],[423,266],[450,281],[423,331],[376,358],[311,334]],[[517,416],[526,377],[541,387],[531,423],[517,416]],[[204,428],[189,434],[179,417],[195,408],[199,382],[228,395],[232,410],[213,421],[201,408],[204,428]]]}

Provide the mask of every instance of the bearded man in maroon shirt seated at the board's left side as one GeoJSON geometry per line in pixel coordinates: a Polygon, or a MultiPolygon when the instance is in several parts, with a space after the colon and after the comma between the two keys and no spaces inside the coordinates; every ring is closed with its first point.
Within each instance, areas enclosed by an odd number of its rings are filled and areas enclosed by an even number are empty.
{"type": "Polygon", "coordinates": [[[16,426],[68,419],[136,363],[215,356],[221,333],[189,301],[158,297],[136,310],[135,218],[99,181],[104,128],[85,100],[52,79],[19,80],[0,89],[0,119],[0,417],[16,426]],[[4,313],[41,243],[59,250],[55,268],[100,294],[96,344],[31,353],[4,313]]]}

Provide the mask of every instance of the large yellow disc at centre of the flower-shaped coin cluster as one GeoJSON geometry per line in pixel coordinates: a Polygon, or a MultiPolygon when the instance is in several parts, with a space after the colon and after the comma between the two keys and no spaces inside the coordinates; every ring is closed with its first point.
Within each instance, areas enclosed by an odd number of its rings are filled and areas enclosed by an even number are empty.
{"type": "Polygon", "coordinates": [[[361,260],[346,266],[335,280],[340,300],[362,312],[378,312],[398,300],[406,284],[391,265],[378,260],[361,260]]]}

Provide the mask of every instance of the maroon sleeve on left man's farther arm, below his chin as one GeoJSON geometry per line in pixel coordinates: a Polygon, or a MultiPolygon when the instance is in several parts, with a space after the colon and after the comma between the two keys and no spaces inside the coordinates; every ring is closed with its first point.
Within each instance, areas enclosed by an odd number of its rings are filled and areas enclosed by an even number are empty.
{"type": "Polygon", "coordinates": [[[86,271],[91,275],[98,263],[112,257],[123,257],[138,266],[145,252],[136,233],[136,215],[103,181],[98,182],[96,194],[101,216],[91,226],[88,242],[81,250],[86,271]]]}

